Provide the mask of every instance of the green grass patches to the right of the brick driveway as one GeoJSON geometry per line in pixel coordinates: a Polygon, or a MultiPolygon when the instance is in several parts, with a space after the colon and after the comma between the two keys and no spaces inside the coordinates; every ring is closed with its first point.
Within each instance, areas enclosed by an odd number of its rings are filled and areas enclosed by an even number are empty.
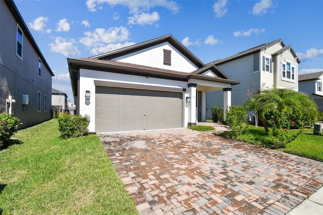
{"type": "MultiPolygon", "coordinates": [[[[297,133],[297,131],[293,130],[288,132],[297,133]]],[[[265,142],[264,139],[266,137],[263,127],[256,129],[254,126],[249,125],[248,132],[241,135],[238,139],[243,142],[263,146],[262,142],[265,142]]],[[[303,133],[286,145],[286,148],[279,150],[323,162],[323,136],[313,135],[313,128],[304,129],[303,133]]]]}

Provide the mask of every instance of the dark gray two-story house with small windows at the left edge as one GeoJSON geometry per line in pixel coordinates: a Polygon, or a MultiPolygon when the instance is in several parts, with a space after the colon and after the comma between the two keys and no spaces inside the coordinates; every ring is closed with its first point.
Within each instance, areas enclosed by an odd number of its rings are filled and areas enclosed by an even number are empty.
{"type": "Polygon", "coordinates": [[[52,76],[15,3],[0,0],[0,113],[18,129],[49,120],[52,76]]]}

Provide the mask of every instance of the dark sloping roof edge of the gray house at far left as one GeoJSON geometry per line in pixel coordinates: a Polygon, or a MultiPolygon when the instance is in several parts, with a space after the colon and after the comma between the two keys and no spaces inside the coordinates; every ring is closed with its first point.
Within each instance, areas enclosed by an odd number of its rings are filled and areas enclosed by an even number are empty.
{"type": "Polygon", "coordinates": [[[35,49],[36,53],[38,54],[39,58],[41,59],[41,61],[44,63],[45,67],[47,68],[48,72],[50,73],[51,76],[55,76],[54,73],[52,72],[52,70],[50,69],[48,63],[46,62],[44,56],[42,55],[36,41],[34,40],[33,36],[31,35],[25,21],[23,20],[22,16],[20,15],[14,1],[12,0],[8,0],[8,1],[4,1],[7,5],[7,7],[9,8],[11,14],[14,16],[14,18],[16,19],[16,21],[18,22],[19,26],[21,27],[21,29],[23,30],[25,36],[28,38],[29,42],[31,43],[32,47],[35,49]]]}

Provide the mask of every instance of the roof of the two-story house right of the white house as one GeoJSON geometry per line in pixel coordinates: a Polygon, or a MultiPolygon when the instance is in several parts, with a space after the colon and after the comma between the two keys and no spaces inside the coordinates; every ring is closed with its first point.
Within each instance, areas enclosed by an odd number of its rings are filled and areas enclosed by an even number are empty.
{"type": "MultiPolygon", "coordinates": [[[[236,60],[236,59],[239,59],[239,58],[242,58],[242,57],[245,57],[245,56],[248,56],[248,55],[252,55],[253,53],[256,53],[256,52],[260,52],[261,50],[263,50],[264,48],[268,48],[272,45],[275,45],[277,43],[281,43],[283,48],[280,49],[278,52],[282,52],[282,51],[285,51],[287,49],[291,49],[293,55],[295,58],[297,58],[297,62],[300,63],[298,57],[296,56],[296,53],[294,52],[294,50],[291,48],[291,46],[285,46],[284,42],[282,39],[277,39],[275,41],[272,41],[272,42],[268,42],[268,43],[264,43],[262,45],[258,45],[256,47],[253,47],[253,48],[250,48],[248,50],[245,50],[245,51],[241,51],[239,53],[237,53],[236,55],[233,55],[233,56],[230,56],[228,58],[225,58],[225,59],[221,59],[221,60],[217,60],[217,61],[213,61],[211,63],[208,63],[206,65],[209,65],[209,64],[214,64],[214,65],[221,65],[221,64],[224,64],[224,63],[227,63],[227,62],[230,62],[230,61],[233,61],[233,60],[236,60]]],[[[276,53],[276,52],[275,52],[276,53]]]]}

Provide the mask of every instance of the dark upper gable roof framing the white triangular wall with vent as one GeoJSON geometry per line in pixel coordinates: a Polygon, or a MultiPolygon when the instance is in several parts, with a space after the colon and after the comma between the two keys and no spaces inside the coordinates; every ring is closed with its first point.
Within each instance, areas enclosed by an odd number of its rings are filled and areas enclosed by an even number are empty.
{"type": "Polygon", "coordinates": [[[175,39],[171,34],[161,36],[155,39],[151,39],[145,42],[137,43],[134,45],[130,45],[124,48],[120,48],[114,51],[102,53],[101,55],[90,57],[91,59],[101,59],[101,60],[111,60],[120,56],[127,55],[129,53],[142,50],[147,47],[151,47],[152,45],[157,45],[163,42],[169,42],[174,47],[176,47],[186,58],[188,58],[191,62],[194,63],[198,68],[204,67],[205,65],[193,55],[182,43],[180,43],[177,39],[175,39]]]}

